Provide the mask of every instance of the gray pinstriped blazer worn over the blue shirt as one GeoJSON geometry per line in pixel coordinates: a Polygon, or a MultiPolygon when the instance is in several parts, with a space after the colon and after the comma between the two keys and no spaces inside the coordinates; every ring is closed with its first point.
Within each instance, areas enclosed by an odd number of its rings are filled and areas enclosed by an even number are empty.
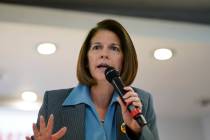
{"type": "MultiPolygon", "coordinates": [[[[85,140],[85,104],[62,106],[64,100],[71,93],[71,90],[72,88],[47,91],[39,110],[39,116],[43,115],[45,120],[48,120],[50,114],[54,115],[53,132],[57,132],[63,126],[67,127],[67,132],[62,140],[85,140]]],[[[139,94],[142,100],[142,111],[148,125],[143,128],[140,135],[135,135],[129,128],[126,128],[126,135],[120,129],[123,119],[120,105],[117,105],[115,112],[117,120],[117,140],[129,140],[128,136],[131,140],[159,140],[156,127],[156,115],[153,109],[151,95],[137,88],[134,88],[134,90],[139,94]]],[[[37,122],[39,122],[39,119],[37,122]]]]}

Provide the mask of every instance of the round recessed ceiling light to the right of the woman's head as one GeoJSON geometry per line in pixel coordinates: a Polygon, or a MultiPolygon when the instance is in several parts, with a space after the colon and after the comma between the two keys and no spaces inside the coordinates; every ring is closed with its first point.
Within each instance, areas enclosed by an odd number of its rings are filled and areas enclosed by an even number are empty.
{"type": "Polygon", "coordinates": [[[154,51],[154,57],[157,60],[168,60],[172,57],[172,55],[172,51],[166,48],[160,48],[154,51]]]}

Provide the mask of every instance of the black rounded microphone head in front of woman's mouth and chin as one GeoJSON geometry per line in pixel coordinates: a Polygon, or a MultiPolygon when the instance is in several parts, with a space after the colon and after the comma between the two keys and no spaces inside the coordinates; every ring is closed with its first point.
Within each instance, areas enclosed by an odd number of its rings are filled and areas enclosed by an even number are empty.
{"type": "Polygon", "coordinates": [[[112,83],[113,78],[120,76],[120,73],[111,66],[107,67],[104,74],[105,74],[106,79],[110,83],[112,83]]]}

